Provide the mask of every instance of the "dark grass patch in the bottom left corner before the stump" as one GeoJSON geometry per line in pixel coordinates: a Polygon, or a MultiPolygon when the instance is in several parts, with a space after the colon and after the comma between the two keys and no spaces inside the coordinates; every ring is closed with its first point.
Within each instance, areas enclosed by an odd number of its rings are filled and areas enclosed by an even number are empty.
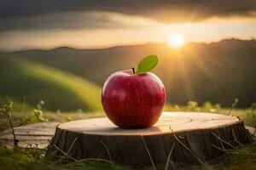
{"type": "Polygon", "coordinates": [[[19,169],[42,169],[42,170],[72,170],[72,169],[86,169],[86,170],[125,170],[130,169],[129,167],[111,165],[108,163],[101,163],[98,161],[90,161],[87,163],[68,163],[60,164],[55,161],[48,161],[44,159],[44,156],[40,155],[38,150],[31,149],[16,149],[6,150],[0,148],[0,169],[1,170],[19,170],[19,169]]]}

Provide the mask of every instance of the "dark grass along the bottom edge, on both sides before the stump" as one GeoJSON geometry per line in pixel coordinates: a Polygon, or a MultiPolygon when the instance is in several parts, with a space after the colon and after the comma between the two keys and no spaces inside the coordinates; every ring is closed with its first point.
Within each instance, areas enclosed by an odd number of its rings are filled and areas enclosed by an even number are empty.
{"type": "MultiPolygon", "coordinates": [[[[15,149],[6,150],[0,147],[0,169],[12,170],[12,169],[56,169],[56,170],[68,170],[68,169],[88,169],[88,170],[121,170],[132,169],[131,167],[121,166],[117,164],[106,163],[102,161],[84,161],[70,162],[67,164],[61,164],[56,161],[49,161],[44,159],[45,150],[33,150],[33,149],[15,149]]],[[[202,170],[254,170],[256,168],[256,143],[240,147],[236,150],[227,150],[228,155],[219,157],[212,162],[209,162],[202,166],[195,166],[189,164],[176,165],[180,166],[180,169],[202,169],[202,170]]],[[[158,168],[158,167],[156,167],[158,168]]],[[[140,168],[141,169],[141,168],[140,168]]],[[[155,167],[149,167],[148,169],[155,169],[155,167]]]]}

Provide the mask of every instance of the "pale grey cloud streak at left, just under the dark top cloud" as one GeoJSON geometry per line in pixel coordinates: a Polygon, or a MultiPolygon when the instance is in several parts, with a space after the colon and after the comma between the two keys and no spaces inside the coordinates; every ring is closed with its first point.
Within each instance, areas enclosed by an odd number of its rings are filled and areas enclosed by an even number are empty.
{"type": "Polygon", "coordinates": [[[96,29],[126,27],[112,14],[96,12],[66,12],[0,19],[0,30],[96,29]]]}

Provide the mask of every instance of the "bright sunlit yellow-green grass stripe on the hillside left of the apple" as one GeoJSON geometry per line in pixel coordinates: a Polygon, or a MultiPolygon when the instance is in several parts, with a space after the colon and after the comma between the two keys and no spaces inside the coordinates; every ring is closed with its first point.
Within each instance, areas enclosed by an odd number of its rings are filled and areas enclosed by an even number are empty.
{"type": "Polygon", "coordinates": [[[69,88],[90,111],[102,108],[101,89],[95,84],[84,81],[84,79],[67,72],[49,68],[32,61],[23,60],[20,65],[25,68],[26,74],[31,77],[41,77],[44,81],[56,82],[59,83],[60,87],[69,88]]]}

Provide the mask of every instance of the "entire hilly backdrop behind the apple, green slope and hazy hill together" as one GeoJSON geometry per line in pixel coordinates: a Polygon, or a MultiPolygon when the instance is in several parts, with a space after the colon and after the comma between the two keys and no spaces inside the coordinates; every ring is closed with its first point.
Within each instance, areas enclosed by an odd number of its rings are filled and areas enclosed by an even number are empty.
{"type": "Polygon", "coordinates": [[[245,108],[255,102],[255,44],[231,39],[188,43],[181,51],[145,44],[0,53],[0,100],[25,100],[27,105],[44,100],[44,108],[54,112],[101,110],[101,88],[109,75],[158,54],[153,72],[165,84],[169,103],[209,100],[229,107],[238,98],[238,106],[245,108]]]}

